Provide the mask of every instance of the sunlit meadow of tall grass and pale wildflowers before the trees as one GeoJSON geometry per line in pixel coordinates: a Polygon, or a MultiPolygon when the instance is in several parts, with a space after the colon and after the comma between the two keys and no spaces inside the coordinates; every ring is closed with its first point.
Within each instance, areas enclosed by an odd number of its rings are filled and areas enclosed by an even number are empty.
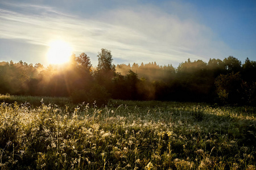
{"type": "Polygon", "coordinates": [[[0,101],[1,169],[256,169],[253,107],[0,101]]]}

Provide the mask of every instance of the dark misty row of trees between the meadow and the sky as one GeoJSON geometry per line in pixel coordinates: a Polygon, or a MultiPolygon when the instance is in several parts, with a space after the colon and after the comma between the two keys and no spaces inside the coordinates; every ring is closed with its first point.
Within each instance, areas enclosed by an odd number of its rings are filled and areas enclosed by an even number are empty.
{"type": "Polygon", "coordinates": [[[71,96],[77,103],[98,104],[110,98],[256,104],[256,61],[249,58],[188,59],[174,68],[156,62],[115,66],[107,49],[97,57],[97,67],[85,53],[73,54],[64,67],[0,62],[0,94],[71,96]]]}

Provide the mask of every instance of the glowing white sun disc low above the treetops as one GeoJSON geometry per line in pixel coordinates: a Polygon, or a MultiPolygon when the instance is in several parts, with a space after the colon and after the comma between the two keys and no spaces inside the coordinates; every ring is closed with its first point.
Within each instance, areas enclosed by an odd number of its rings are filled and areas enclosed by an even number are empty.
{"type": "Polygon", "coordinates": [[[49,50],[47,53],[48,63],[63,64],[67,63],[72,55],[72,48],[68,42],[63,40],[53,40],[49,43],[49,50]]]}

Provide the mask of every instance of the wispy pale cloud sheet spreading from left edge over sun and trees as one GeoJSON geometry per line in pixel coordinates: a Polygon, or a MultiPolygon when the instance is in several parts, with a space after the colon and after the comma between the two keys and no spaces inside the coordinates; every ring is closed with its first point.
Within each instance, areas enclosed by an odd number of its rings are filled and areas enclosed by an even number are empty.
{"type": "MultiPolygon", "coordinates": [[[[197,19],[179,17],[177,12],[170,13],[154,5],[105,9],[88,18],[46,5],[9,3],[7,6],[0,8],[1,39],[47,46],[52,39],[61,38],[72,44],[77,54],[95,54],[91,57],[94,65],[101,48],[112,50],[117,61],[156,61],[176,66],[187,58],[226,57],[230,50],[197,19]]],[[[179,9],[182,10],[181,5],[179,9]]]]}

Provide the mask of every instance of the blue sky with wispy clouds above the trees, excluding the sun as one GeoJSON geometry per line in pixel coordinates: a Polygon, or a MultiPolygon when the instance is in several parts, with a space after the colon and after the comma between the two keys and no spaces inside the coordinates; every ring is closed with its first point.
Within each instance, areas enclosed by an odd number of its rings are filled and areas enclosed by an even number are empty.
{"type": "Polygon", "coordinates": [[[115,65],[256,61],[256,1],[0,1],[0,62],[48,66],[54,40],[88,54],[93,66],[101,48],[115,65]]]}

